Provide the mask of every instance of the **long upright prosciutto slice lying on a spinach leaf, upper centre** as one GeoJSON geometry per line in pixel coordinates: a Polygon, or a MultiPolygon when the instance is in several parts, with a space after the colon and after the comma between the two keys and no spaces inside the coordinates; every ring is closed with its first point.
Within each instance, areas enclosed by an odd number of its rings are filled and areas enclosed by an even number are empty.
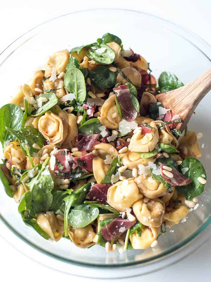
{"type": "Polygon", "coordinates": [[[114,88],[117,92],[117,100],[120,106],[121,114],[127,122],[132,122],[137,117],[137,112],[131,102],[131,93],[128,85],[119,85],[114,88]]]}

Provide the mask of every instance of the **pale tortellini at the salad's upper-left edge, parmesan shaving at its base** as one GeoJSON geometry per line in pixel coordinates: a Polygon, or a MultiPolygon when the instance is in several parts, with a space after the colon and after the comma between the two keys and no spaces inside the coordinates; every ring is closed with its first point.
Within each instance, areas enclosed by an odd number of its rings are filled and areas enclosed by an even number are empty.
{"type": "Polygon", "coordinates": [[[69,59],[70,53],[67,49],[52,54],[46,64],[45,77],[51,76],[53,71],[56,75],[65,72],[69,59]]]}

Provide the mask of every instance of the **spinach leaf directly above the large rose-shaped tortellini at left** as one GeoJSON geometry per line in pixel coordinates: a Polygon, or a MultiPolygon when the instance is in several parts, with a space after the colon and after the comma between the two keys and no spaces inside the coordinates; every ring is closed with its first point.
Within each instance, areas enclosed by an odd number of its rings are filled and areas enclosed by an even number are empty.
{"type": "Polygon", "coordinates": [[[38,108],[37,110],[31,113],[33,117],[36,117],[38,115],[43,115],[45,112],[49,111],[53,106],[55,106],[58,103],[58,99],[54,93],[46,93],[39,95],[38,98],[36,98],[36,100],[42,97],[48,99],[48,101],[43,102],[43,105],[40,108],[38,108]]]}

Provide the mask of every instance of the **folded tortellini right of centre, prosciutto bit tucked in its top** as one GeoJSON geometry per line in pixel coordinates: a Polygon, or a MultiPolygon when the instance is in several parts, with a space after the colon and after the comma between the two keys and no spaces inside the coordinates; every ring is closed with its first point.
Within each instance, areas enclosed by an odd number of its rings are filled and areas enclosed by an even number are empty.
{"type": "Polygon", "coordinates": [[[132,152],[151,152],[154,150],[158,139],[159,133],[155,122],[150,122],[150,126],[153,127],[151,133],[145,135],[141,134],[142,130],[137,131],[131,137],[128,149],[132,152]]]}

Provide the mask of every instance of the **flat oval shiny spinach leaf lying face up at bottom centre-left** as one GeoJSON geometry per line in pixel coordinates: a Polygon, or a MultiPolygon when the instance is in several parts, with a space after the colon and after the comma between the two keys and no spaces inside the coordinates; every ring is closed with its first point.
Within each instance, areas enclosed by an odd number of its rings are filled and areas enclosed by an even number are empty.
{"type": "Polygon", "coordinates": [[[99,209],[89,205],[80,205],[71,209],[68,214],[68,223],[72,227],[83,228],[99,216],[99,209]]]}

